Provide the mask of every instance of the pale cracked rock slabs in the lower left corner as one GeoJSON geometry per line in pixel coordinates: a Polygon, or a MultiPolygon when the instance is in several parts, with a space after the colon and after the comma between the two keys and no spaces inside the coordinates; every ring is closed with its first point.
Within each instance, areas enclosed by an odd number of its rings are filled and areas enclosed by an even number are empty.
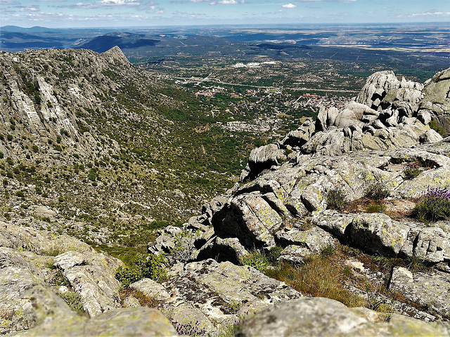
{"type": "Polygon", "coordinates": [[[70,287],[89,317],[120,308],[115,270],[123,263],[73,237],[0,223],[0,260],[0,333],[51,317],[86,320],[70,310],[58,284],[70,287]]]}

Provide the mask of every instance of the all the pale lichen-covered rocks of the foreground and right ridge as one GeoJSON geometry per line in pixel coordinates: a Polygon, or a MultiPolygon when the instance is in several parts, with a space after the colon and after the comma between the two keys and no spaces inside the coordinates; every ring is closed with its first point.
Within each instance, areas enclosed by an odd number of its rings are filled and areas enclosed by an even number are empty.
{"type": "MultiPolygon", "coordinates": [[[[162,230],[148,251],[167,254],[169,278],[134,282],[125,297],[115,279],[120,260],[67,235],[0,223],[0,333],[178,336],[174,326],[184,324],[219,336],[240,322],[238,336],[450,336],[450,223],[406,216],[411,198],[449,187],[450,138],[429,126],[449,131],[449,92],[450,70],[425,85],[373,74],[345,110],[323,109],[283,141],[253,150],[240,183],[182,228],[162,230]],[[405,174],[411,164],[415,177],[405,174]],[[337,189],[353,209],[330,209],[327,195],[337,189]],[[397,213],[357,207],[377,189],[397,213]],[[387,289],[403,297],[386,314],[307,297],[238,265],[255,249],[280,246],[279,263],[302,265],[340,245],[428,267],[389,271],[387,289]],[[138,294],[157,309],[141,306],[138,294]]],[[[368,282],[385,281],[358,258],[344,263],[368,282]]],[[[368,300],[385,296],[348,288],[368,300]]]]}

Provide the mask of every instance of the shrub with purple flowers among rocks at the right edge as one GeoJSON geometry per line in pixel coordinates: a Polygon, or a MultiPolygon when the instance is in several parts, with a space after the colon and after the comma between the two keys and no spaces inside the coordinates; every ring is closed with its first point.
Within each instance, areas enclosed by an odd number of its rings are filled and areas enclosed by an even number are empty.
{"type": "Polygon", "coordinates": [[[414,207],[413,216],[425,223],[450,219],[450,191],[428,187],[414,207]]]}

